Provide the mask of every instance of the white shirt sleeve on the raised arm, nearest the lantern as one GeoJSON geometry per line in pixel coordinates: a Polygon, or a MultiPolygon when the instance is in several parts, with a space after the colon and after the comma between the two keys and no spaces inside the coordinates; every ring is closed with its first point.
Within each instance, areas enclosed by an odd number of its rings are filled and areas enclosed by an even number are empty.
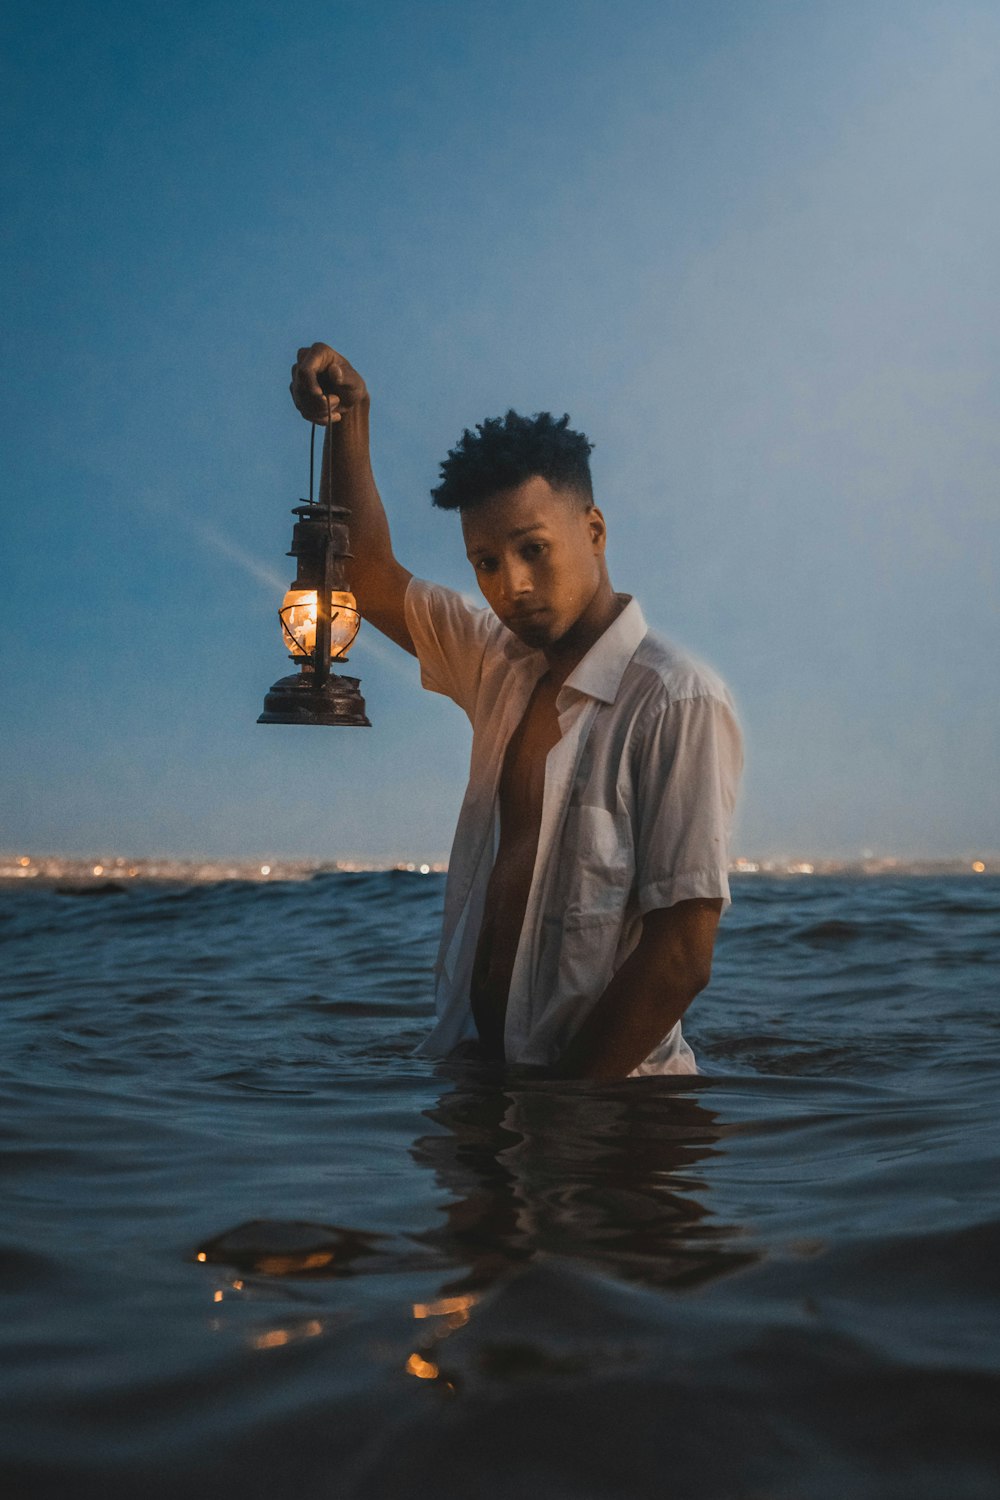
{"type": "Polygon", "coordinates": [[[483,663],[499,621],[492,609],[477,609],[462,594],[411,578],[405,600],[406,624],[420,662],[420,681],[475,714],[483,663]]]}

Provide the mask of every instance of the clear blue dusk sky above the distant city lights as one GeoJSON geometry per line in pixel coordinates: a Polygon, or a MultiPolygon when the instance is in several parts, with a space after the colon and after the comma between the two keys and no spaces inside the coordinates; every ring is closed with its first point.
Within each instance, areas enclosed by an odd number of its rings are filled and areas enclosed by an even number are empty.
{"type": "Polygon", "coordinates": [[[0,848],[441,855],[459,711],[255,723],[325,339],[396,550],[568,411],[612,578],[747,728],[738,852],[1000,849],[1000,12],[967,0],[4,10],[0,848]]]}

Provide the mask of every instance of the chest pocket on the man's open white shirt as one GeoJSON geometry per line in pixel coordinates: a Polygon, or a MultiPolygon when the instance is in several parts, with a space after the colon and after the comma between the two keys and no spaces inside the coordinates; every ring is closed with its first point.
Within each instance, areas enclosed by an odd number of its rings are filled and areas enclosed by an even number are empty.
{"type": "Polygon", "coordinates": [[[559,900],[552,915],[564,927],[619,922],[634,873],[628,818],[606,807],[571,804],[559,850],[559,900]]]}

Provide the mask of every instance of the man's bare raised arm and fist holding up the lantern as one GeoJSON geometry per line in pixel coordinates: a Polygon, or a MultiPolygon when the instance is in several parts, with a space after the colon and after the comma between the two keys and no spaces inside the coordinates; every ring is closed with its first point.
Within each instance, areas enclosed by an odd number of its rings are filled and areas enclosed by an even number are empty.
{"type": "Polygon", "coordinates": [[[319,498],[351,508],[351,590],[364,620],[406,651],[414,642],[403,600],[411,574],[396,561],[388,520],[372,474],[370,398],[349,360],[328,344],[298,351],[292,364],[292,400],[306,422],[327,428],[319,498]]]}

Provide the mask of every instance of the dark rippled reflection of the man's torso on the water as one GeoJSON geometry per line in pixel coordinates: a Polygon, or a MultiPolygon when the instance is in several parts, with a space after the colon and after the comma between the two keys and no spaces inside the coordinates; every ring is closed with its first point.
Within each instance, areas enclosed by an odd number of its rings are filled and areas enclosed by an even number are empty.
{"type": "Polygon", "coordinates": [[[451,1202],[421,1236],[457,1264],[442,1294],[481,1292],[537,1256],[630,1281],[697,1286],[757,1258],[720,1222],[694,1170],[726,1134],[718,1112],[669,1078],[501,1083],[468,1072],[426,1110],[418,1137],[451,1202]],[[684,1092],[681,1092],[684,1089],[684,1092]]]}

